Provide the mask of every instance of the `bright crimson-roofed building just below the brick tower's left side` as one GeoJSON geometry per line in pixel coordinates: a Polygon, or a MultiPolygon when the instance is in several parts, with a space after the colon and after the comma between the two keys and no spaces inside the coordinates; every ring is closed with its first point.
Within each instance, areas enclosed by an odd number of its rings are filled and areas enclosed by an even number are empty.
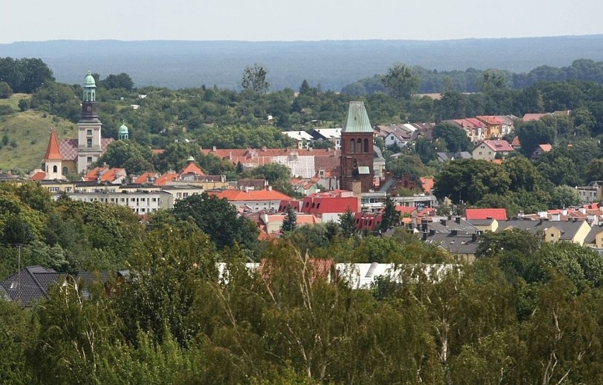
{"type": "Polygon", "coordinates": [[[351,191],[335,190],[304,197],[299,211],[314,214],[322,222],[333,221],[339,223],[340,214],[348,211],[348,209],[352,212],[360,212],[358,206],[358,197],[355,197],[351,191]]]}

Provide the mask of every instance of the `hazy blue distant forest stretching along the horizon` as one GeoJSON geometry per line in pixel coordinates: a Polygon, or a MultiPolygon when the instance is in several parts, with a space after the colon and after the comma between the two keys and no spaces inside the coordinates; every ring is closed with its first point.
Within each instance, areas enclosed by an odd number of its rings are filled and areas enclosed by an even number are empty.
{"type": "Polygon", "coordinates": [[[603,61],[603,35],[447,41],[58,40],[0,45],[0,57],[39,57],[57,81],[67,84],[79,84],[91,69],[102,77],[125,72],[139,88],[171,89],[215,85],[236,90],[243,69],[260,63],[269,70],[272,91],[297,90],[304,79],[323,91],[341,91],[360,79],[385,74],[399,62],[422,67],[415,67],[422,78],[422,92],[441,92],[446,76],[457,91],[470,92],[475,87],[473,76],[484,69],[509,71],[512,88],[543,80],[540,72],[554,72],[549,66],[558,67],[561,72],[556,76],[560,77],[546,80],[567,79],[563,68],[574,67],[575,59],[603,61]]]}

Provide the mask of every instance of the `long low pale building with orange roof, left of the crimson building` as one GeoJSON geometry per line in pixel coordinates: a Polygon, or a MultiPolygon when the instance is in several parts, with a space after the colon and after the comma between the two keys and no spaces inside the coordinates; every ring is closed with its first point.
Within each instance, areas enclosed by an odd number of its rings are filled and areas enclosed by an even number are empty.
{"type": "Polygon", "coordinates": [[[251,209],[252,212],[260,210],[276,212],[282,200],[291,199],[277,190],[272,190],[272,187],[266,190],[215,190],[207,193],[221,199],[225,198],[237,209],[251,209]]]}

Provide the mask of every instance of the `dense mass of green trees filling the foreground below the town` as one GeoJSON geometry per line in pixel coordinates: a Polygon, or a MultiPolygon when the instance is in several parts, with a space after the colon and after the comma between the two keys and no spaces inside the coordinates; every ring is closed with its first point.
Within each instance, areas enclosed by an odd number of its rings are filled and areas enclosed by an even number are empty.
{"type": "Polygon", "coordinates": [[[219,227],[236,210],[207,195],[144,225],[33,184],[2,183],[0,197],[5,274],[16,244],[23,265],[130,270],[86,287],[69,276],[31,309],[0,301],[0,384],[603,381],[603,262],[573,243],[485,234],[475,263],[437,273],[427,266],[446,253],[401,228],[375,237],[331,222],[248,243],[219,227]],[[250,258],[270,269],[248,270],[250,258]],[[396,270],[352,289],[307,258],[396,270]]]}

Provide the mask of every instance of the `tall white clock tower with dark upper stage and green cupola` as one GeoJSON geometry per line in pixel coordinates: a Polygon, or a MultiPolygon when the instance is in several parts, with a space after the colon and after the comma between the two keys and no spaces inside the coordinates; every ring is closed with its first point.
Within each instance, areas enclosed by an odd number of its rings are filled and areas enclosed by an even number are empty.
{"type": "Polygon", "coordinates": [[[96,103],[96,82],[92,71],[88,71],[84,78],[84,89],[81,98],[81,118],[77,123],[77,172],[84,173],[96,162],[102,154],[101,149],[101,121],[98,120],[98,106],[96,103]]]}

